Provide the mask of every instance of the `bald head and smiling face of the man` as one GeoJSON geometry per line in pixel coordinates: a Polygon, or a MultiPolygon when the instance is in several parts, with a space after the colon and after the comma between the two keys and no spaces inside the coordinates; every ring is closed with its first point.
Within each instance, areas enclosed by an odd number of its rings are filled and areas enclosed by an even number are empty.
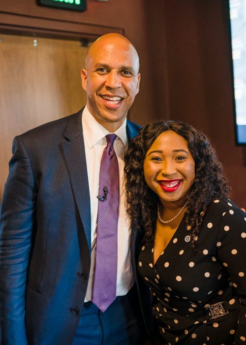
{"type": "Polygon", "coordinates": [[[139,58],[123,36],[109,34],[98,39],[86,56],[82,85],[88,110],[109,132],[118,129],[139,91],[139,58]]]}

